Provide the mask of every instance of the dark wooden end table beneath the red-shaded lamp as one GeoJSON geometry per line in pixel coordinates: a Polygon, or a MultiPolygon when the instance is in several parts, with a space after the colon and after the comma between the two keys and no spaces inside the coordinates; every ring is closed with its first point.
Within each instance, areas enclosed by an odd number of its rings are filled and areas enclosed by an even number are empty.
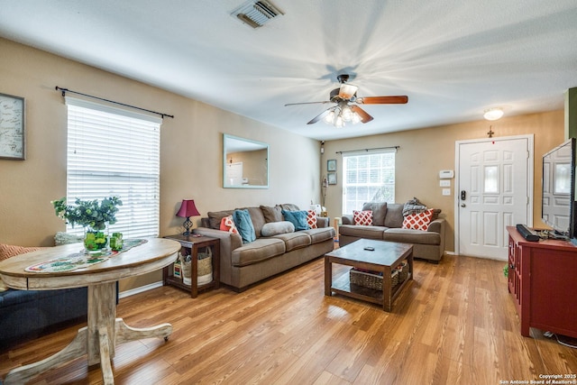
{"type": "Polygon", "coordinates": [[[164,285],[176,286],[180,289],[190,290],[190,297],[197,298],[198,292],[206,289],[220,288],[220,240],[209,236],[190,235],[167,235],[164,238],[171,239],[180,243],[182,248],[188,249],[192,257],[191,285],[186,285],[182,280],[170,274],[173,267],[167,266],[162,270],[162,282],[164,285]],[[210,247],[213,253],[213,280],[204,285],[198,286],[198,249],[210,247]]]}

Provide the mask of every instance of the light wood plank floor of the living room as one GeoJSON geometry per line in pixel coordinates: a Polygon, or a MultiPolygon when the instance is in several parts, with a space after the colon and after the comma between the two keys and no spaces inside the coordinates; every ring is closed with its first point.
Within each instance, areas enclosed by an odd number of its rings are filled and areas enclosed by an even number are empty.
{"type": "MultiPolygon", "coordinates": [[[[323,261],[243,293],[218,289],[192,299],[179,289],[123,298],[128,325],[170,322],[165,343],[119,345],[117,384],[499,384],[577,373],[577,350],[519,334],[505,262],[445,256],[415,262],[415,281],[392,313],[325,297],[323,261]]],[[[0,376],[59,351],[78,326],[0,355],[0,376]]],[[[101,383],[81,358],[34,383],[101,383]]]]}

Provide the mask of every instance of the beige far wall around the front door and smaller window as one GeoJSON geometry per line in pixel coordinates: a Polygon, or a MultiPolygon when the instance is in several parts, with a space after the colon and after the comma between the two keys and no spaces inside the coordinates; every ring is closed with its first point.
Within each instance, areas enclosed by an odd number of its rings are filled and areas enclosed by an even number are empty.
{"type": "MultiPolygon", "coordinates": [[[[494,137],[535,134],[535,184],[533,200],[534,225],[541,223],[541,175],[542,156],[564,140],[563,111],[544,114],[521,115],[501,118],[492,123],[494,137]]],[[[329,186],[326,193],[328,215],[343,215],[342,167],[343,158],[336,151],[352,151],[375,147],[399,146],[396,156],[395,201],[404,203],[418,197],[426,206],[441,208],[442,216],[449,224],[445,243],[447,250],[454,248],[454,179],[451,180],[450,197],[441,195],[439,171],[455,170],[454,149],[456,141],[487,138],[490,123],[484,120],[463,124],[425,128],[325,142],[325,154],[321,161],[321,178],[326,175],[326,160],[337,160],[337,185],[329,186]]],[[[362,130],[362,126],[359,127],[362,130]]],[[[347,214],[347,213],[345,213],[347,214]]],[[[352,214],[352,213],[348,213],[352,214]]]]}

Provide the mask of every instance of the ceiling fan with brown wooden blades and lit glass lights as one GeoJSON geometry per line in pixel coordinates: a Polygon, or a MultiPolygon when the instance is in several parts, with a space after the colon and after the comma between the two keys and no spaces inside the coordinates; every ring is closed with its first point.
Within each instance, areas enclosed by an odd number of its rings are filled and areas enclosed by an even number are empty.
{"type": "Polygon", "coordinates": [[[330,100],[323,102],[288,103],[287,105],[314,105],[335,103],[336,105],[326,109],[316,115],[307,124],[315,124],[319,120],[324,120],[327,124],[342,127],[345,123],[357,124],[359,122],[368,123],[373,119],[358,105],[403,105],[408,102],[408,96],[366,96],[357,97],[359,87],[347,84],[349,75],[337,75],[336,79],[341,83],[341,87],[331,91],[330,100]]]}

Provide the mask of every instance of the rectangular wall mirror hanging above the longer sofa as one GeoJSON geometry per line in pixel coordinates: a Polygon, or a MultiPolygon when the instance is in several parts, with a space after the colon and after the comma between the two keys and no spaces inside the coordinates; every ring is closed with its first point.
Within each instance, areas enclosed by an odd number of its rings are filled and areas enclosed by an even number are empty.
{"type": "Polygon", "coordinates": [[[224,133],[224,188],[269,188],[269,145],[224,133]]]}

